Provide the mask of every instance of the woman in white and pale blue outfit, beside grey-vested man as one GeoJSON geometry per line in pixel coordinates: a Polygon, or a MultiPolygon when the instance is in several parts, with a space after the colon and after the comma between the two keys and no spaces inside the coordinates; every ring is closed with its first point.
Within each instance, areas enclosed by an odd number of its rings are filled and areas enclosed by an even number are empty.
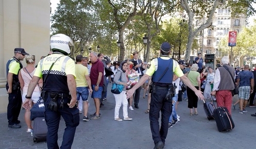
{"type": "Polygon", "coordinates": [[[213,83],[214,83],[214,75],[215,73],[213,72],[213,69],[211,67],[207,67],[205,70],[207,70],[208,72],[202,72],[204,75],[206,75],[206,87],[204,88],[203,91],[203,97],[205,99],[210,99],[212,100],[213,98],[211,97],[211,92],[212,92],[212,87],[213,87],[213,83]]]}

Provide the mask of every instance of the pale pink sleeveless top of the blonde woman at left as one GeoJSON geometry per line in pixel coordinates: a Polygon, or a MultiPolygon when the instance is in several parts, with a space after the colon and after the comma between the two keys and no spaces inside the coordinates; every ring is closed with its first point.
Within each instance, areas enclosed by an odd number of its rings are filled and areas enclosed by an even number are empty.
{"type": "MultiPolygon", "coordinates": [[[[33,70],[33,72],[30,73],[31,77],[33,77],[34,73],[35,73],[36,69],[33,70]]],[[[23,87],[23,93],[27,93],[27,90],[28,90],[28,84],[29,82],[31,81],[31,77],[29,76],[29,74],[27,73],[27,71],[21,69],[21,76],[22,76],[22,79],[24,80],[24,87],[23,87]]],[[[36,86],[34,92],[41,92],[38,85],[36,86]]]]}

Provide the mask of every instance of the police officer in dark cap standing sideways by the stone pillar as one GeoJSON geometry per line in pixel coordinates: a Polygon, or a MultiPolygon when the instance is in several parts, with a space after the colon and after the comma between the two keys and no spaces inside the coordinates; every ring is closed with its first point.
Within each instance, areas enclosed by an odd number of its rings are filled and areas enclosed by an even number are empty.
{"type": "Polygon", "coordinates": [[[15,48],[14,56],[6,63],[6,90],[7,94],[9,94],[7,107],[8,127],[15,129],[19,129],[21,127],[19,124],[21,121],[18,120],[18,117],[21,111],[22,97],[18,74],[20,69],[22,69],[22,63],[20,60],[23,60],[25,55],[28,55],[28,53],[26,53],[23,48],[15,48]]]}

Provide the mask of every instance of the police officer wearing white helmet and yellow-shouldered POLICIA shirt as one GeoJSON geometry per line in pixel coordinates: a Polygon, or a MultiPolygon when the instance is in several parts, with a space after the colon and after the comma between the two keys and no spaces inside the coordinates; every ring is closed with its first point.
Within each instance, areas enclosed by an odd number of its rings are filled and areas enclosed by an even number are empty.
{"type": "Polygon", "coordinates": [[[23,104],[25,109],[31,106],[32,92],[39,79],[43,78],[42,98],[48,128],[47,148],[59,148],[57,140],[60,116],[66,124],[60,148],[71,148],[79,124],[79,110],[75,107],[77,100],[75,61],[67,56],[73,46],[71,38],[64,34],[56,34],[50,38],[53,54],[39,61],[23,104]]]}

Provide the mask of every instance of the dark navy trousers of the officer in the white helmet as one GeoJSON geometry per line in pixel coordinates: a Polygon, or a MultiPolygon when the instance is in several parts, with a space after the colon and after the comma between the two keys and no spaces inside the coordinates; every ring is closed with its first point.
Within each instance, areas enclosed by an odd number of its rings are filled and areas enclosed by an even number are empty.
{"type": "Polygon", "coordinates": [[[47,148],[59,148],[58,145],[58,130],[60,123],[60,116],[65,120],[66,128],[63,134],[63,140],[60,148],[71,148],[76,127],[79,125],[79,110],[74,108],[69,108],[67,103],[70,102],[69,98],[63,98],[63,108],[60,108],[61,97],[57,99],[58,109],[57,111],[52,111],[48,108],[48,104],[51,101],[51,98],[48,96],[44,99],[45,104],[45,121],[47,124],[47,148]]]}

